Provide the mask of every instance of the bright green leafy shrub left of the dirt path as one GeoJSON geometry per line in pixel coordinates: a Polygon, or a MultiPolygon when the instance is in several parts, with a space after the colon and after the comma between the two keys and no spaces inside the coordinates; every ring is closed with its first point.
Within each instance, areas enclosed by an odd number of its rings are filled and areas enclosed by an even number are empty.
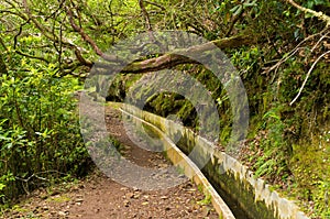
{"type": "Polygon", "coordinates": [[[63,175],[84,174],[89,158],[72,95],[78,80],[57,77],[52,65],[31,66],[22,59],[19,69],[2,74],[0,83],[2,200],[63,175]]]}

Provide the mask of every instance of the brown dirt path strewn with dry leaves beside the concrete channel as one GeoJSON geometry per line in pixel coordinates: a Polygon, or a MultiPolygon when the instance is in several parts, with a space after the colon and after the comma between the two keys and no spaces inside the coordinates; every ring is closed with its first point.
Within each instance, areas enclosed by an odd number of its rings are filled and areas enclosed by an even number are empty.
{"type": "MultiPolygon", "coordinates": [[[[170,165],[160,153],[134,145],[117,110],[106,110],[109,133],[122,142],[124,156],[141,166],[170,165]]],[[[162,219],[219,218],[204,194],[190,182],[173,188],[144,191],[120,185],[101,173],[87,179],[34,191],[2,218],[162,219]]]]}

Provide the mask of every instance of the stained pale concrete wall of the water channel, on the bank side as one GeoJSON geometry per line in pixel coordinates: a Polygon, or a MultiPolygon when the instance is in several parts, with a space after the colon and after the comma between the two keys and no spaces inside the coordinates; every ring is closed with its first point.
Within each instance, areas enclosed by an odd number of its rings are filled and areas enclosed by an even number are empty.
{"type": "MultiPolygon", "coordinates": [[[[246,218],[261,219],[307,219],[294,201],[283,198],[272,190],[261,178],[255,178],[246,166],[235,158],[219,151],[206,139],[191,130],[166,120],[160,116],[142,111],[130,105],[121,105],[121,109],[141,120],[155,125],[185,153],[197,166],[202,167],[204,174],[213,185],[230,195],[246,218]],[[178,140],[179,139],[179,140],[178,140]],[[204,161],[208,160],[205,164],[204,161]]],[[[142,128],[143,129],[143,128],[142,128]]],[[[217,210],[218,211],[218,210],[217,210]]],[[[223,218],[232,218],[226,217],[223,218]]]]}

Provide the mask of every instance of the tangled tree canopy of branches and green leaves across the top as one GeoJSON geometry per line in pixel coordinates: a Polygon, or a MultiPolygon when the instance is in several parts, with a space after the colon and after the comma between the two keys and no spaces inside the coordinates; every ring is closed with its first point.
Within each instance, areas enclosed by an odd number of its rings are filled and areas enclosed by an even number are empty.
{"type": "MultiPolygon", "coordinates": [[[[12,47],[23,57],[56,63],[62,75],[79,75],[86,72],[81,68],[92,66],[96,56],[114,64],[120,62],[118,57],[106,54],[106,50],[119,40],[143,31],[188,31],[213,41],[223,50],[263,45],[270,41],[298,42],[329,28],[329,17],[318,9],[328,9],[327,1],[308,1],[300,6],[290,0],[157,3],[143,0],[6,0],[1,9],[2,31],[6,33],[2,46],[12,47]],[[316,23],[317,26],[312,28],[316,23]],[[292,32],[294,35],[288,37],[292,32]]],[[[280,55],[283,52],[276,53],[280,55]]],[[[160,62],[136,62],[134,70],[128,67],[127,72],[145,72],[146,63],[160,62]]]]}

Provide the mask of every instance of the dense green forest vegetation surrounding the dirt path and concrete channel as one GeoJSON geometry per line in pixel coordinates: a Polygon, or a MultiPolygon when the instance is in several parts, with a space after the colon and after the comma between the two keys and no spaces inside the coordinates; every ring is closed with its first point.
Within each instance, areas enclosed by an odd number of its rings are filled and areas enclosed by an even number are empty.
{"type": "MultiPolygon", "coordinates": [[[[2,0],[2,202],[87,171],[73,91],[80,89],[94,61],[103,57],[116,65],[116,57],[103,52],[118,41],[145,31],[180,30],[216,42],[239,69],[251,113],[241,160],[301,200],[311,217],[329,217],[329,11],[327,0],[2,0]]],[[[226,145],[228,95],[209,70],[187,63],[176,68],[197,78],[217,100],[219,144],[226,145]]],[[[123,100],[145,72],[141,61],[128,66],[107,99],[123,100]]],[[[177,94],[160,94],[146,108],[165,117],[177,113],[185,124],[198,127],[193,106],[177,94]]]]}

